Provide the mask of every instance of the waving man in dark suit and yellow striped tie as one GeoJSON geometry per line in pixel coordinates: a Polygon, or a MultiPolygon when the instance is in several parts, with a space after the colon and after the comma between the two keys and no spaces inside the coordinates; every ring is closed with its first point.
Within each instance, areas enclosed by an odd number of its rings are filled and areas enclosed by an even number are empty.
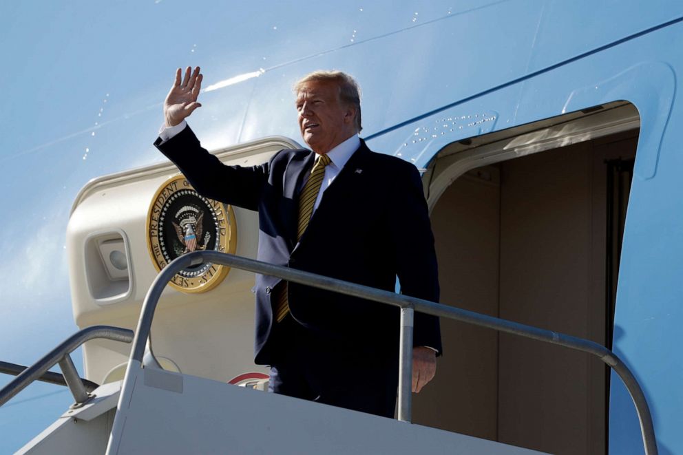
{"type": "MultiPolygon", "coordinates": [[[[346,281],[439,299],[437,260],[414,165],[368,149],[359,87],[338,71],[295,85],[302,150],[262,165],[223,165],[186,118],[200,107],[200,68],[178,69],[155,145],[207,198],[258,211],[258,259],[346,281]]],[[[262,121],[269,121],[263,118],[262,121]]],[[[271,392],[394,415],[399,310],[257,275],[255,362],[271,367],[271,392]]],[[[416,313],[412,390],[434,377],[439,320],[416,313]]]]}

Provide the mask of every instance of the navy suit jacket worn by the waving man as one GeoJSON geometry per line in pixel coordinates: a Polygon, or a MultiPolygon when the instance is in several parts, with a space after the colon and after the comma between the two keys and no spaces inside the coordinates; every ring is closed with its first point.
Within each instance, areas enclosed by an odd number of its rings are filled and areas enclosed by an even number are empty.
{"type": "MultiPolygon", "coordinates": [[[[313,167],[310,150],[282,150],[260,166],[223,165],[203,149],[189,127],[155,142],[198,193],[259,213],[258,260],[384,290],[439,300],[434,237],[414,165],[361,146],[350,157],[297,243],[297,192],[313,167]]],[[[255,361],[273,363],[269,343],[273,289],[280,279],[256,277],[255,361]]],[[[396,352],[399,309],[291,283],[291,315],[324,337],[396,352]]],[[[439,319],[415,313],[414,346],[441,352],[439,319]]]]}

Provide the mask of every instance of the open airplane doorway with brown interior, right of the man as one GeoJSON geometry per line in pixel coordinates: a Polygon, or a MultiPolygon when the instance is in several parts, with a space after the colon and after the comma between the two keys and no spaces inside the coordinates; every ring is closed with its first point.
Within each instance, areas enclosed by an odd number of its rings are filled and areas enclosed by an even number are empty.
{"type": "MultiPolygon", "coordinates": [[[[441,301],[611,347],[639,125],[620,102],[443,149],[427,176],[441,301]]],[[[441,324],[445,357],[415,423],[554,454],[607,451],[602,362],[441,324]]]]}

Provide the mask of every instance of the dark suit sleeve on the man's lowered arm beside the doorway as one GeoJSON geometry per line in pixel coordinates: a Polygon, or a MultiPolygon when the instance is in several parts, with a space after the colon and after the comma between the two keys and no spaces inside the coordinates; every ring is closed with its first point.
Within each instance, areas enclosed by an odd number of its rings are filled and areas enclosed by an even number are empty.
{"type": "MultiPolygon", "coordinates": [[[[401,178],[392,188],[390,236],[397,261],[401,293],[439,301],[439,271],[434,235],[429,220],[422,180],[417,168],[401,162],[401,178]]],[[[415,312],[414,346],[429,346],[443,352],[439,318],[415,312]]]]}

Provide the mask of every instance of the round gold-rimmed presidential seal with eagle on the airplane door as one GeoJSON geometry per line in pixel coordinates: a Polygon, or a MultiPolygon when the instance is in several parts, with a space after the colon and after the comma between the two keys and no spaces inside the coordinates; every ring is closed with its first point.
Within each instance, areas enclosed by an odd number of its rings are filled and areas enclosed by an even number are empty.
{"type": "MultiPolygon", "coordinates": [[[[191,251],[234,253],[236,232],[231,207],[199,195],[182,174],[161,185],[147,213],[147,248],[157,271],[191,251]]],[[[204,263],[180,271],[170,284],[185,293],[203,293],[220,284],[228,271],[227,266],[204,263]]]]}

